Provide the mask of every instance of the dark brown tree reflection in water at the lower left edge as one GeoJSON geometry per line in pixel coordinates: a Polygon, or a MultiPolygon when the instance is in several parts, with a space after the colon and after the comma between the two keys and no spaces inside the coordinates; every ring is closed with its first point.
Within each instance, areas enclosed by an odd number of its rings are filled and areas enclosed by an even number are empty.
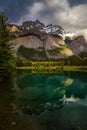
{"type": "Polygon", "coordinates": [[[14,97],[14,79],[4,79],[0,83],[0,130],[12,130],[15,122],[17,108],[14,97]]]}

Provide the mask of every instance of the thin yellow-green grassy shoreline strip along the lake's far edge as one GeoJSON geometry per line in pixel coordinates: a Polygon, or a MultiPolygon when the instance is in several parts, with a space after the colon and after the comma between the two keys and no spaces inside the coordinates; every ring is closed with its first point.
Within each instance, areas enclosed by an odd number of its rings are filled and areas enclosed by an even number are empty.
{"type": "Polygon", "coordinates": [[[30,70],[32,72],[59,72],[59,71],[80,71],[87,72],[87,66],[20,66],[17,70],[30,70]]]}

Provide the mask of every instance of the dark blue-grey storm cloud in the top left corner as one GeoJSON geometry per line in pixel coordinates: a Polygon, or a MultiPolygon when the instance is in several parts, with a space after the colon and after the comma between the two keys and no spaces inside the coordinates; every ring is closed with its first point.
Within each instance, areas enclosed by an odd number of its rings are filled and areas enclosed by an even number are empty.
{"type": "Polygon", "coordinates": [[[26,13],[26,6],[41,0],[0,0],[0,11],[9,16],[11,21],[16,22],[26,13]]]}

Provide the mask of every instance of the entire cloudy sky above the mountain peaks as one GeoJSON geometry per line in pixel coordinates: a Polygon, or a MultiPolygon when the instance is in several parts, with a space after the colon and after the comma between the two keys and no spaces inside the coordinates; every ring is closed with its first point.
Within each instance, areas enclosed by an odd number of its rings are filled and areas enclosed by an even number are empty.
{"type": "Polygon", "coordinates": [[[0,11],[15,24],[38,19],[69,32],[87,29],[87,0],[0,0],[0,11]]]}

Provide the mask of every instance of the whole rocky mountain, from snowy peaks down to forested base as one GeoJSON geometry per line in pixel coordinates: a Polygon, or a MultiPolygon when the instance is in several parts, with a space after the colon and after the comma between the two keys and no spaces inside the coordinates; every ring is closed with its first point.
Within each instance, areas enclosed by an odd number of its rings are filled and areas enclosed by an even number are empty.
{"type": "Polygon", "coordinates": [[[20,59],[58,60],[87,52],[83,36],[67,33],[59,25],[25,21],[20,26],[10,25],[10,32],[16,36],[13,44],[20,59]]]}

